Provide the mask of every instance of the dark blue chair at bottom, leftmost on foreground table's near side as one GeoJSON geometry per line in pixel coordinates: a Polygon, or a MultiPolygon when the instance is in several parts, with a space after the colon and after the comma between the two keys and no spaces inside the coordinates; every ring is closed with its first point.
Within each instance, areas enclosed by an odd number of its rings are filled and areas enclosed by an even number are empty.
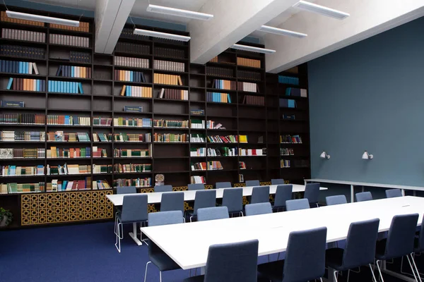
{"type": "Polygon", "coordinates": [[[258,240],[211,245],[205,275],[183,282],[257,282],[258,240]]]}

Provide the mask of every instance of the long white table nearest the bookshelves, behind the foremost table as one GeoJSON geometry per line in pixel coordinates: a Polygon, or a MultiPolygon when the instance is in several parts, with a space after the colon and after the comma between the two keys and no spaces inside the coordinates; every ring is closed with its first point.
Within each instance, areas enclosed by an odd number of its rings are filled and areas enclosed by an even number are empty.
{"type": "MultiPolygon", "coordinates": [[[[248,187],[242,187],[243,188],[243,196],[251,196],[252,195],[252,189],[254,186],[248,186],[248,187]]],[[[223,193],[225,189],[231,189],[231,188],[220,188],[215,189],[216,190],[216,198],[220,199],[223,197],[223,193]]],[[[327,188],[320,188],[320,190],[326,190],[327,188]]],[[[269,193],[275,194],[277,190],[277,185],[270,185],[269,186],[269,193]]],[[[298,185],[293,184],[293,192],[304,192],[305,191],[305,185],[298,185]]],[[[196,195],[196,190],[186,190],[186,191],[174,191],[174,192],[184,192],[184,201],[194,201],[194,196],[196,195]]],[[[147,195],[147,201],[148,204],[160,204],[160,200],[162,200],[162,194],[165,192],[151,192],[146,193],[147,195]]],[[[168,192],[170,193],[170,192],[168,192]]],[[[122,206],[122,201],[124,200],[124,194],[115,194],[115,195],[106,195],[107,199],[112,202],[114,206],[122,206]]],[[[142,245],[141,240],[137,238],[137,224],[133,223],[133,232],[129,233],[129,236],[136,242],[137,245],[142,245]]]]}

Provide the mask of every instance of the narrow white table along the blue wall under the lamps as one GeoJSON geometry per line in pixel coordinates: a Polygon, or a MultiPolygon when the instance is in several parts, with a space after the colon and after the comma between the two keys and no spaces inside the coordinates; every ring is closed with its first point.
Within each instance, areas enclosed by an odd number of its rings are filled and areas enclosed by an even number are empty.
{"type": "Polygon", "coordinates": [[[332,179],[321,179],[321,178],[305,179],[305,185],[308,182],[334,183],[334,184],[341,184],[341,185],[350,185],[351,186],[351,202],[355,202],[355,195],[354,195],[354,189],[353,189],[353,188],[355,188],[355,186],[362,186],[363,192],[364,192],[364,187],[366,187],[366,186],[367,187],[375,187],[375,188],[401,189],[403,195],[405,195],[405,190],[413,190],[414,196],[416,196],[416,191],[424,191],[424,187],[419,187],[419,186],[355,182],[355,181],[343,181],[343,180],[332,180],[332,179]]]}

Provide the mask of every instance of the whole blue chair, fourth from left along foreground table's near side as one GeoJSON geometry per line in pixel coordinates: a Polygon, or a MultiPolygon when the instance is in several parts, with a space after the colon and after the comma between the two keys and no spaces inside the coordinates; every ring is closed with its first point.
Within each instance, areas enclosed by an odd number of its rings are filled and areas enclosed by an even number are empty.
{"type": "Polygon", "coordinates": [[[416,264],[412,255],[414,251],[417,221],[418,214],[396,215],[391,220],[387,239],[377,241],[375,259],[377,259],[377,269],[382,281],[384,280],[379,262],[404,256],[408,259],[415,280],[418,281],[415,270],[413,269],[413,265],[416,264]]]}

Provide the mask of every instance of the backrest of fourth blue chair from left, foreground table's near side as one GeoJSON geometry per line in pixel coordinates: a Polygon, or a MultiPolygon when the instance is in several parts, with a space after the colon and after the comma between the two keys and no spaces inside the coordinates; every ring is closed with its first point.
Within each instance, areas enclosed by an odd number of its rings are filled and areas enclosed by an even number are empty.
{"type": "Polygon", "coordinates": [[[401,214],[391,219],[384,254],[387,259],[403,257],[413,252],[417,223],[418,214],[401,214]]]}

